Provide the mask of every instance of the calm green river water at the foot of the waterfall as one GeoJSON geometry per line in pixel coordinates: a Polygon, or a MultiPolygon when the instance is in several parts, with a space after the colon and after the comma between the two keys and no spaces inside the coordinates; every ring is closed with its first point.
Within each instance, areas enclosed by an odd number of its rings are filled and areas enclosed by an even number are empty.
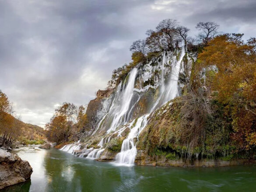
{"type": "Polygon", "coordinates": [[[31,180],[4,192],[251,192],[256,166],[224,168],[118,167],[51,149],[16,150],[27,160],[31,180]]]}

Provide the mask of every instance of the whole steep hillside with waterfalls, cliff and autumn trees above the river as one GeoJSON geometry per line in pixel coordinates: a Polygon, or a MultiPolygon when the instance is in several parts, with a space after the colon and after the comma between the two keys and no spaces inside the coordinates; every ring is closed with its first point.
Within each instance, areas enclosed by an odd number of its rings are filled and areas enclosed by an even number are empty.
{"type": "MultiPolygon", "coordinates": [[[[197,27],[205,25],[218,26],[197,27]]],[[[187,31],[164,20],[134,42],[133,61],[113,71],[109,87],[88,104],[77,137],[65,140],[77,142],[61,150],[118,164],[254,162],[255,38],[205,30],[195,44],[187,31]]]]}

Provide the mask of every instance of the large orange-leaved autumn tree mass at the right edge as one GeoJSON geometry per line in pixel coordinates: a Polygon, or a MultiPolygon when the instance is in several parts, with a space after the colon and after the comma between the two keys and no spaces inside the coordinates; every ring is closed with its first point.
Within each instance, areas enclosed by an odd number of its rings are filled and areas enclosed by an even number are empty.
{"type": "MultiPolygon", "coordinates": [[[[253,42],[253,39],[251,39],[253,42]]],[[[256,56],[255,45],[244,43],[241,34],[220,35],[199,54],[201,69],[217,67],[210,88],[232,110],[232,138],[238,146],[256,145],[256,56]]]]}

